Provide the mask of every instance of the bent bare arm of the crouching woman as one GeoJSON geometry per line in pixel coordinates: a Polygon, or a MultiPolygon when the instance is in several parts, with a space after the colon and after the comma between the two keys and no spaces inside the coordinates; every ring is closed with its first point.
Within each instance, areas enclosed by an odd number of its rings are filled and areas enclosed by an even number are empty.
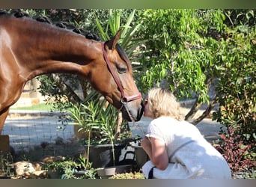
{"type": "Polygon", "coordinates": [[[143,138],[141,146],[149,156],[153,165],[160,170],[165,170],[168,166],[168,155],[165,147],[165,142],[157,138],[143,138]]]}

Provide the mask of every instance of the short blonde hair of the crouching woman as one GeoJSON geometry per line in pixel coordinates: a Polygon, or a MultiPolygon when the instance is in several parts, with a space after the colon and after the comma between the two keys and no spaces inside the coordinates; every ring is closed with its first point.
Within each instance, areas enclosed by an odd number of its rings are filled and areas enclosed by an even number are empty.
{"type": "Polygon", "coordinates": [[[184,120],[180,113],[180,103],[171,91],[164,88],[152,88],[148,92],[149,111],[154,118],[161,116],[173,117],[176,120],[184,120]]]}

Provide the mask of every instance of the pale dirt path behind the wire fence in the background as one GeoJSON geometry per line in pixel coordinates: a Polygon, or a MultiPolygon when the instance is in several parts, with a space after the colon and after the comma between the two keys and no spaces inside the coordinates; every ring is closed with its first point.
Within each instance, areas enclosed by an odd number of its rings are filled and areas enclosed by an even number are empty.
{"type": "MultiPolygon", "coordinates": [[[[182,110],[186,114],[189,108],[182,108],[182,110]]],[[[147,131],[149,123],[150,119],[146,117],[142,117],[140,121],[136,122],[144,132],[147,131]]],[[[132,135],[143,136],[133,123],[129,123],[129,126],[132,135]]],[[[210,118],[205,118],[197,125],[208,141],[219,138],[221,126],[210,118]]],[[[10,136],[10,146],[14,150],[22,150],[25,155],[37,160],[45,156],[73,156],[84,152],[82,144],[73,139],[73,126],[68,124],[63,126],[63,123],[59,121],[58,114],[51,115],[40,111],[34,111],[33,114],[25,111],[23,114],[11,112],[7,117],[2,135],[10,136]]]]}

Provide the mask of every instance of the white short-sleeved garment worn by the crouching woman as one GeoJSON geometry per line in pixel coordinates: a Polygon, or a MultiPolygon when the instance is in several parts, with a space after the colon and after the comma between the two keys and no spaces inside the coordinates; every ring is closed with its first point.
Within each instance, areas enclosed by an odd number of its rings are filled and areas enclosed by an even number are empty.
{"type": "MultiPolygon", "coordinates": [[[[147,128],[147,136],[165,142],[169,165],[165,171],[153,169],[153,177],[161,179],[231,179],[228,163],[199,132],[198,128],[186,121],[171,117],[152,120],[147,128]]],[[[148,175],[152,162],[142,167],[148,175]]]]}

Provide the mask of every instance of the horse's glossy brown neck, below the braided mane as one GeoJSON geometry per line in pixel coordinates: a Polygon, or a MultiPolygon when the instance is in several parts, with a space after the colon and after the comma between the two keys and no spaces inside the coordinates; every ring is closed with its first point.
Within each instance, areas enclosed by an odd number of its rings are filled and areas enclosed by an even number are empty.
{"type": "Polygon", "coordinates": [[[15,45],[19,63],[27,67],[23,75],[25,79],[46,73],[87,76],[88,64],[101,52],[99,42],[52,25],[29,20],[23,22],[23,25],[17,25],[19,37],[15,45]]]}

